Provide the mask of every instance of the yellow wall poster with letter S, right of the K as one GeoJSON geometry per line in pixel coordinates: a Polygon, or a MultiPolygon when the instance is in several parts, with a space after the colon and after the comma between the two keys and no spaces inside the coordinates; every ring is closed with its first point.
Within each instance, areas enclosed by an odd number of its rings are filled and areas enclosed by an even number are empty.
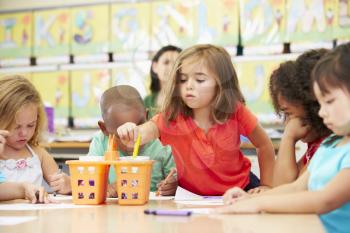
{"type": "Polygon", "coordinates": [[[71,46],[74,55],[94,55],[109,50],[109,6],[72,8],[71,46]]]}

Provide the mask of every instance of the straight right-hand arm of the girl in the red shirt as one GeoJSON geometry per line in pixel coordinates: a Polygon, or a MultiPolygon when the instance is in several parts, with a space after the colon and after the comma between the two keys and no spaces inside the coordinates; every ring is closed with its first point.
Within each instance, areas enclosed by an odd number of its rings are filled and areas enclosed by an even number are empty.
{"type": "Polygon", "coordinates": [[[248,135],[248,138],[256,147],[260,168],[260,185],[272,186],[275,162],[275,151],[272,142],[259,124],[248,135]]]}

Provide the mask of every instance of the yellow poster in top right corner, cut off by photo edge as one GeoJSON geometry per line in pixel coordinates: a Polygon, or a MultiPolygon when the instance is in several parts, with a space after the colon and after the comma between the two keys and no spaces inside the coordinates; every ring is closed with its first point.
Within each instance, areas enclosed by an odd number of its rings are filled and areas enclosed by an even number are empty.
{"type": "Polygon", "coordinates": [[[335,0],[334,38],[350,39],[350,0],[335,0]]]}

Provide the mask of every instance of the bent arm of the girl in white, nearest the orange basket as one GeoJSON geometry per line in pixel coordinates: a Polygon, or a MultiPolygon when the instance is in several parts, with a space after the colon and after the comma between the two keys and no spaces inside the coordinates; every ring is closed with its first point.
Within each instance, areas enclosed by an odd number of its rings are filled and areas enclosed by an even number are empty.
{"type": "Polygon", "coordinates": [[[60,194],[71,193],[70,177],[63,172],[59,172],[53,157],[41,147],[36,147],[35,152],[40,158],[44,179],[52,190],[60,194]]]}

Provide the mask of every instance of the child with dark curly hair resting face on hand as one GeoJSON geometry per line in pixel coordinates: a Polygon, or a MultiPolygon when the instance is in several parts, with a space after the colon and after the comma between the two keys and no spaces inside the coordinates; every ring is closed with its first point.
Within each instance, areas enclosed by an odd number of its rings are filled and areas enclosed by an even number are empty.
{"type": "Polygon", "coordinates": [[[282,63],[270,79],[270,95],[277,114],[285,119],[273,186],[290,183],[306,169],[312,156],[330,130],[318,115],[320,105],[312,94],[311,71],[317,61],[328,52],[326,49],[310,50],[296,61],[282,63]],[[307,150],[296,161],[295,144],[307,143],[307,150]]]}

